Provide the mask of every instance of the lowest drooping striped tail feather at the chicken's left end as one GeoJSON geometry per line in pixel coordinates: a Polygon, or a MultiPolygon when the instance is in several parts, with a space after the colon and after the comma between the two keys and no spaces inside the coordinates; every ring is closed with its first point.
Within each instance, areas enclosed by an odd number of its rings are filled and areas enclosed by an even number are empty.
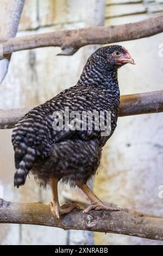
{"type": "Polygon", "coordinates": [[[26,182],[28,170],[26,169],[24,163],[24,161],[21,161],[20,168],[16,170],[16,173],[14,175],[14,186],[17,186],[17,188],[24,185],[24,183],[26,182]]]}

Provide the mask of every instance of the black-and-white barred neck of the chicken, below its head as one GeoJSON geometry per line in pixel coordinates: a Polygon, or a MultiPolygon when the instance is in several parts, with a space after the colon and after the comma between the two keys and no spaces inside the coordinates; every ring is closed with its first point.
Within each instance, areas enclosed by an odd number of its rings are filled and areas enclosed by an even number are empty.
{"type": "Polygon", "coordinates": [[[117,80],[117,70],[108,69],[97,64],[85,65],[78,86],[98,88],[108,93],[120,94],[117,80]]]}

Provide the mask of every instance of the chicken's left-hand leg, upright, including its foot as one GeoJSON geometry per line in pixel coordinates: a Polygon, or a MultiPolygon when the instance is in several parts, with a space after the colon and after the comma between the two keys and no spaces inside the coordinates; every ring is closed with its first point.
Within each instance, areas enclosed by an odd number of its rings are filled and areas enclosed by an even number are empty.
{"type": "Polygon", "coordinates": [[[52,196],[53,196],[53,203],[49,203],[51,207],[52,214],[59,218],[62,214],[68,214],[71,212],[74,208],[79,208],[77,204],[64,204],[62,206],[59,205],[58,201],[58,179],[53,178],[50,180],[50,186],[52,190],[52,196]]]}

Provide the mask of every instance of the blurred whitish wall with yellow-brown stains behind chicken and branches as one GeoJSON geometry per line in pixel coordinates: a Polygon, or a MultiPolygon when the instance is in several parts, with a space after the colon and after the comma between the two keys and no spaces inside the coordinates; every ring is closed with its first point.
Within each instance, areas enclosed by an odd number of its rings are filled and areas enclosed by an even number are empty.
{"type": "MultiPolygon", "coordinates": [[[[17,35],[93,26],[88,14],[91,8],[96,9],[96,2],[26,0],[17,35]]],[[[107,0],[104,22],[109,26],[139,21],[158,11],[163,11],[162,0],[107,0]]],[[[99,19],[95,25],[98,25],[99,19]]],[[[136,62],[135,66],[126,65],[119,71],[121,94],[162,89],[163,57],[159,57],[161,43],[162,34],[119,43],[129,50],[136,62]]],[[[8,75],[0,87],[0,108],[39,105],[61,90],[73,86],[86,59],[95,48],[85,46],[74,56],[68,57],[56,56],[60,52],[58,47],[13,53],[8,75]]],[[[123,208],[162,216],[163,199],[158,197],[159,186],[163,185],[162,134],[162,113],[119,118],[117,129],[103,150],[101,167],[94,182],[95,193],[102,200],[114,202],[123,208]]],[[[14,188],[11,130],[0,130],[0,143],[0,197],[20,202],[39,200],[49,203],[51,192],[40,190],[32,176],[27,179],[26,186],[19,190],[14,188]]],[[[63,196],[60,199],[62,202],[63,196]]],[[[87,236],[81,231],[74,232],[71,237],[70,231],[56,228],[1,224],[0,244],[66,245],[77,243],[74,234],[87,236]]],[[[97,245],[163,244],[147,239],[98,233],[94,234],[94,240],[97,245]]]]}

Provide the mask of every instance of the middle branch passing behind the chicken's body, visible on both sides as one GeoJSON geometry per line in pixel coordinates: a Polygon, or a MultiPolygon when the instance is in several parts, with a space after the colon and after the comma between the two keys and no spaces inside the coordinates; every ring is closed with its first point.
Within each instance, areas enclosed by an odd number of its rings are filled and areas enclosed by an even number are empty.
{"type": "MultiPolygon", "coordinates": [[[[10,129],[30,108],[0,110],[0,129],[10,129]]],[[[120,117],[163,112],[163,90],[121,96],[120,117]]]]}

